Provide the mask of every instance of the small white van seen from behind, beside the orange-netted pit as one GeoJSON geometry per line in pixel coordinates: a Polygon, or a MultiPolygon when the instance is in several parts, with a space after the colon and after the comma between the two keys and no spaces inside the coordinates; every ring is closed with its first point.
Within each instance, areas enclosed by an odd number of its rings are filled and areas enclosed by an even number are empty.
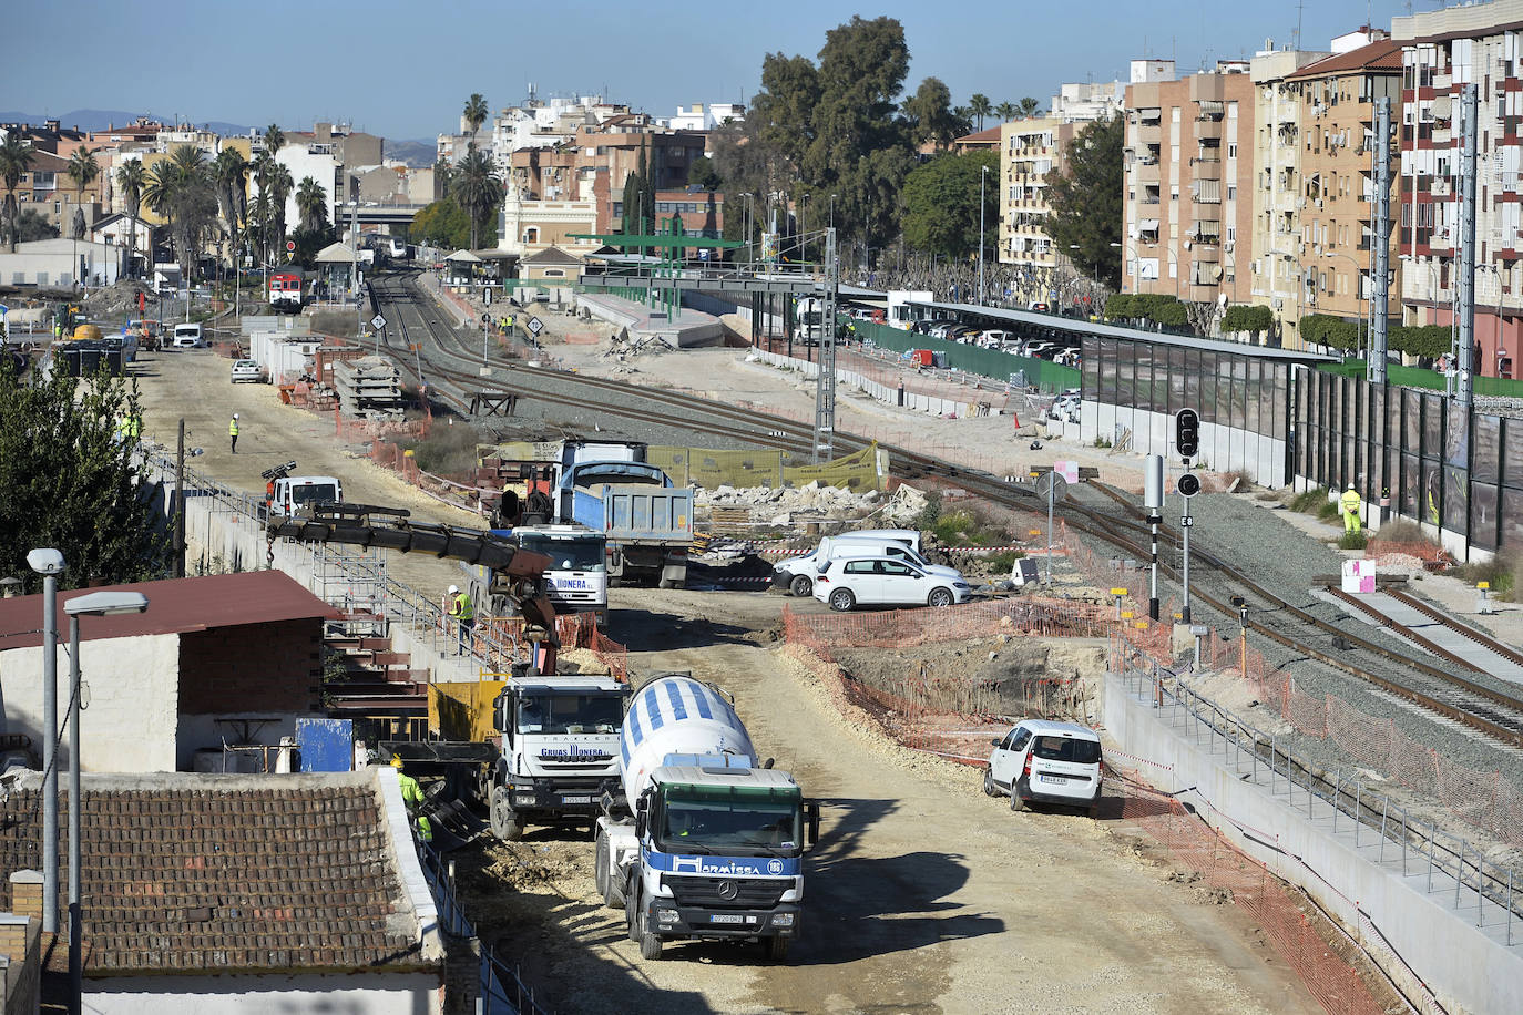
{"type": "Polygon", "coordinates": [[[995,750],[984,770],[984,793],[1010,794],[1010,810],[1027,803],[1068,803],[1100,808],[1104,758],[1100,733],[1075,723],[1028,718],[990,741],[995,750]]]}

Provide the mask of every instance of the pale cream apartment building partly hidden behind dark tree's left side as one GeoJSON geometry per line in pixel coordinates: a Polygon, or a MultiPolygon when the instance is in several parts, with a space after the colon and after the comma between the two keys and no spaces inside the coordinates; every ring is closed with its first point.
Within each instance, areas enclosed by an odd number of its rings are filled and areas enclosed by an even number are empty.
{"type": "Polygon", "coordinates": [[[1046,187],[1063,173],[1063,152],[1080,129],[1054,116],[999,126],[999,263],[1023,269],[1043,286],[1045,272],[1060,262],[1046,231],[1052,213],[1046,187]]]}

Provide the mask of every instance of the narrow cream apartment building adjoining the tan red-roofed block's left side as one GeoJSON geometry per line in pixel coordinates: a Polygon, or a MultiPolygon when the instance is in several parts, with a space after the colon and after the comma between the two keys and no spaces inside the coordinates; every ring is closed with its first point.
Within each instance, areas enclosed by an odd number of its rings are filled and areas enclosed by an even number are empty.
{"type": "Polygon", "coordinates": [[[1302,313],[1301,210],[1301,90],[1290,76],[1331,50],[1276,50],[1273,44],[1249,64],[1253,79],[1253,225],[1241,253],[1247,263],[1252,301],[1275,313],[1276,338],[1299,348],[1302,313]]]}

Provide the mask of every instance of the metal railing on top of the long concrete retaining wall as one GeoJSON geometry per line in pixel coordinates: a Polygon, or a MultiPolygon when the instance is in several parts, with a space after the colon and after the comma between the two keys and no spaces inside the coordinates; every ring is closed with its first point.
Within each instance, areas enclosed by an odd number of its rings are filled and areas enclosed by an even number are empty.
{"type": "Polygon", "coordinates": [[[1506,943],[1512,947],[1512,925],[1518,922],[1517,943],[1523,945],[1523,898],[1518,895],[1523,880],[1511,867],[1488,864],[1485,854],[1468,840],[1442,832],[1436,820],[1416,817],[1387,794],[1371,791],[1363,779],[1328,772],[1298,755],[1278,737],[1241,721],[1157,663],[1147,670],[1127,662],[1121,676],[1133,695],[1151,702],[1161,712],[1167,709],[1170,723],[1183,715],[1188,735],[1197,744],[1220,737],[1226,764],[1235,773],[1253,784],[1263,776],[1270,796],[1282,793],[1285,807],[1304,807],[1308,819],[1319,803],[1330,808],[1334,834],[1340,828],[1352,831],[1355,849],[1378,846],[1380,864],[1400,858],[1403,878],[1426,877],[1426,893],[1433,893],[1435,875],[1441,883],[1453,881],[1456,910],[1473,896],[1476,927],[1506,924],[1506,943]]]}

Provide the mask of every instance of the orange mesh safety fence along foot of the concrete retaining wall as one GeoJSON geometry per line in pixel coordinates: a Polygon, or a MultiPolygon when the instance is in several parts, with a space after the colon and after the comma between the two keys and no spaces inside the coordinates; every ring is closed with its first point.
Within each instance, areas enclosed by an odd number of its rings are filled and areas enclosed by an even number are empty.
{"type": "MultiPolygon", "coordinates": [[[[1107,767],[1112,765],[1107,762],[1107,767]]],[[[1269,867],[1223,840],[1177,799],[1133,778],[1112,779],[1106,785],[1119,788],[1121,799],[1107,799],[1101,817],[1113,817],[1115,803],[1119,803],[1121,820],[1141,828],[1176,864],[1194,872],[1197,889],[1250,913],[1323,1010],[1336,1015],[1381,1015],[1386,1010],[1359,972],[1328,947],[1296,902],[1295,889],[1269,867]]]]}

